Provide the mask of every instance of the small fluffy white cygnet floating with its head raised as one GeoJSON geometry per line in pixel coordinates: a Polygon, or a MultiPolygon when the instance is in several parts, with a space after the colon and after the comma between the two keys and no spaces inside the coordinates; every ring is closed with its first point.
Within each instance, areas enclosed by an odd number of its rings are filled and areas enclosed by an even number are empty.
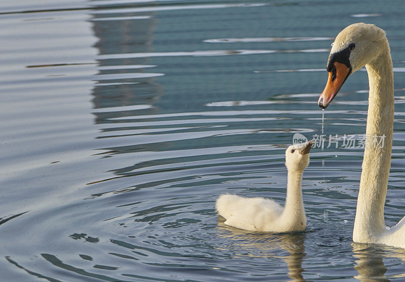
{"type": "Polygon", "coordinates": [[[309,164],[312,141],[291,145],[286,150],[288,170],[286,205],[263,197],[241,197],[223,194],[217,199],[216,209],[226,219],[225,224],[240,229],[264,232],[303,231],[306,228],[302,202],[302,174],[309,164]]]}

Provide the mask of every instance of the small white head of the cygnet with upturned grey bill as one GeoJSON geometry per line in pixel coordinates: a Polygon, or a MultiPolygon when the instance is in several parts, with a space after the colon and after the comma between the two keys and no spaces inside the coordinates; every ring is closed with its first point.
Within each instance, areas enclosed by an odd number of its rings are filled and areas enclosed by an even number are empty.
{"type": "Polygon", "coordinates": [[[286,167],[288,171],[303,172],[309,164],[309,151],[313,141],[291,145],[286,150],[286,167]]]}

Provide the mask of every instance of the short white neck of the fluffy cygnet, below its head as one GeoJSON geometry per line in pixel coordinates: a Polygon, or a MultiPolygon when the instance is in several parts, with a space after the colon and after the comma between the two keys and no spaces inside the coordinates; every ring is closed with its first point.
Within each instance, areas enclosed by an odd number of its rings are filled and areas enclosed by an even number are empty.
{"type": "Polygon", "coordinates": [[[302,173],[302,171],[288,172],[286,205],[281,216],[286,220],[294,218],[294,220],[302,221],[301,219],[305,218],[301,191],[302,173]]]}

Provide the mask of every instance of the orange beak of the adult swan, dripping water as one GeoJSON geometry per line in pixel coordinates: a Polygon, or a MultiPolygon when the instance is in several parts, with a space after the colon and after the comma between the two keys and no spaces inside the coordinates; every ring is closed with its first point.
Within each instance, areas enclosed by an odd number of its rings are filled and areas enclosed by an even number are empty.
{"type": "Polygon", "coordinates": [[[329,106],[333,98],[338,94],[342,85],[345,83],[350,72],[351,68],[347,67],[345,64],[338,62],[333,63],[333,69],[329,72],[326,87],[319,96],[319,107],[326,109],[329,106]]]}

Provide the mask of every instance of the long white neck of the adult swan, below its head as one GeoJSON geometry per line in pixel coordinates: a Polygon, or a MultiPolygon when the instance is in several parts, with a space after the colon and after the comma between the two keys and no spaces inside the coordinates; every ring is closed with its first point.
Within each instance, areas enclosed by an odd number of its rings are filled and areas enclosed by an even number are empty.
{"type": "Polygon", "coordinates": [[[386,230],[384,204],[391,166],[394,86],[388,42],[385,49],[366,65],[370,84],[366,136],[370,142],[364,152],[353,229],[353,240],[359,243],[373,241],[386,230]],[[382,148],[373,144],[375,138],[380,141],[384,136],[382,148]]]}

